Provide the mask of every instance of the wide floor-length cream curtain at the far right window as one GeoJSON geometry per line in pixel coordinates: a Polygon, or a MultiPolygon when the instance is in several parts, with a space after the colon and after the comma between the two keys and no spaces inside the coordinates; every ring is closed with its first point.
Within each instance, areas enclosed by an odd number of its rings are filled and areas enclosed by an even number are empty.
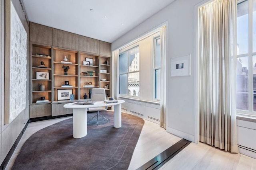
{"type": "Polygon", "coordinates": [[[238,152],[236,133],[236,0],[199,9],[200,141],[238,152]]]}

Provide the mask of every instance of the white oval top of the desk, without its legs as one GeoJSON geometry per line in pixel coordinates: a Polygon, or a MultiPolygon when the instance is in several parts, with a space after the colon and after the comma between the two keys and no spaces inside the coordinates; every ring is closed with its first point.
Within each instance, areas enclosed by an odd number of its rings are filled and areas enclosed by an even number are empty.
{"type": "Polygon", "coordinates": [[[118,100],[117,103],[110,103],[106,104],[103,101],[102,102],[95,102],[94,104],[84,104],[84,105],[73,105],[74,103],[65,104],[63,107],[68,109],[82,109],[82,108],[93,108],[93,107],[105,107],[105,106],[113,106],[124,103],[124,100],[118,100]]]}

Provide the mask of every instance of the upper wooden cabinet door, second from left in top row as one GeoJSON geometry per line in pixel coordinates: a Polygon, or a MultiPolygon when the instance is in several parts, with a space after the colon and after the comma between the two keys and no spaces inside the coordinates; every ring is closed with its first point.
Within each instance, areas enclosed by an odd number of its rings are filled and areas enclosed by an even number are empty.
{"type": "Polygon", "coordinates": [[[60,29],[52,29],[52,45],[67,49],[79,49],[79,35],[62,31],[60,29]]]}

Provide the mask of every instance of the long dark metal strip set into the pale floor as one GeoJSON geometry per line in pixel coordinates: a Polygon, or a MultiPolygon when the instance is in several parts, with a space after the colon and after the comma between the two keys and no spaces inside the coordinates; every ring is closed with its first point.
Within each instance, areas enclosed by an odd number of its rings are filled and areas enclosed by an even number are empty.
{"type": "Polygon", "coordinates": [[[172,159],[182,149],[188,146],[191,142],[186,139],[181,139],[170,148],[164,150],[164,152],[158,154],[156,157],[148,161],[146,164],[140,166],[137,170],[157,170],[163,166],[166,162],[172,159]]]}

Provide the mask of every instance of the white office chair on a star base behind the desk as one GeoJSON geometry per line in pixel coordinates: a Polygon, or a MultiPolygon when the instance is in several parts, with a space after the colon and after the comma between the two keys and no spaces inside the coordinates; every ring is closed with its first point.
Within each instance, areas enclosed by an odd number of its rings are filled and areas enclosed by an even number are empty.
{"type": "MultiPolygon", "coordinates": [[[[106,93],[105,93],[105,89],[104,88],[93,88],[92,89],[92,101],[95,102],[99,102],[99,101],[104,101],[106,100],[106,93]]],[[[108,119],[102,115],[99,114],[99,111],[106,111],[108,107],[94,107],[94,108],[88,108],[88,111],[97,111],[97,115],[95,115],[94,117],[97,116],[97,126],[99,123],[99,116],[103,117],[104,119],[106,119],[108,121],[108,119]]],[[[89,121],[91,121],[94,117],[92,117],[90,120],[87,121],[87,123],[89,121]]],[[[108,122],[107,122],[108,123],[108,122]]]]}

